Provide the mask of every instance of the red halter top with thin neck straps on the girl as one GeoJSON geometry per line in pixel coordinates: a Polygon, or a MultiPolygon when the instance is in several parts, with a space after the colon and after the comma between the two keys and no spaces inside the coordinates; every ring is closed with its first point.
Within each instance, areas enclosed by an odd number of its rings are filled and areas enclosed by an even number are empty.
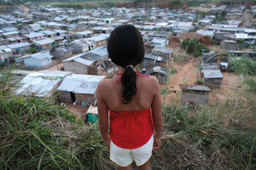
{"type": "MultiPolygon", "coordinates": [[[[122,73],[116,75],[122,75],[122,73]]],[[[149,77],[149,75],[141,75],[140,72],[136,72],[136,75],[149,77]]],[[[120,79],[121,77],[116,82],[120,79]]],[[[154,133],[150,107],[135,112],[109,110],[109,119],[109,137],[116,146],[123,149],[143,146],[154,133]]]]}

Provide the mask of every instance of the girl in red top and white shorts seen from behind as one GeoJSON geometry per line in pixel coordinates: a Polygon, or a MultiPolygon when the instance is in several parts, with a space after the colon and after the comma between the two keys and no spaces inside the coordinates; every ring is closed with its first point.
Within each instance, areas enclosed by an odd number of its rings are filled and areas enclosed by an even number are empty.
{"type": "Polygon", "coordinates": [[[136,71],[144,60],[143,37],[133,25],[118,26],[107,50],[119,71],[97,88],[100,132],[120,170],[132,170],[133,160],[140,170],[151,170],[149,158],[161,146],[163,120],[158,80],[136,71]]]}

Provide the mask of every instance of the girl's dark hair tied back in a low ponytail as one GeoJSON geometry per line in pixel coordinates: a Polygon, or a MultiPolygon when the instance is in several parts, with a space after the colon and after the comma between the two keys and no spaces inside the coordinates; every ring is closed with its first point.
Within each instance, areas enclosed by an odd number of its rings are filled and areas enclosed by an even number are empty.
{"type": "Polygon", "coordinates": [[[132,96],[137,92],[137,76],[133,68],[128,65],[135,67],[143,62],[145,55],[143,37],[133,25],[117,26],[109,36],[107,50],[114,64],[126,68],[121,79],[124,89],[122,103],[130,104],[132,96]]]}

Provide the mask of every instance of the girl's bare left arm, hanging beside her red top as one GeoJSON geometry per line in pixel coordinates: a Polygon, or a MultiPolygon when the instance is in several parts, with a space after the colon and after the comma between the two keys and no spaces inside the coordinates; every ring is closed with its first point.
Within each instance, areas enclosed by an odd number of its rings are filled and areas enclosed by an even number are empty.
{"type": "Polygon", "coordinates": [[[108,107],[103,100],[104,95],[104,87],[105,82],[104,80],[100,81],[97,87],[97,108],[98,108],[98,115],[99,115],[99,128],[100,133],[102,135],[103,140],[106,142],[107,146],[109,147],[110,138],[108,135],[108,126],[109,126],[109,119],[108,119],[108,107]]]}

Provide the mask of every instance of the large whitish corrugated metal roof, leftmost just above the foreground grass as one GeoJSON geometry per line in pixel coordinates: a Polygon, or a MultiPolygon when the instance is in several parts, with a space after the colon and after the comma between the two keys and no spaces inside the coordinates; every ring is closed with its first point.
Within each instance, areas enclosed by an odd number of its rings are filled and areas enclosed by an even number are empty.
{"type": "Polygon", "coordinates": [[[51,97],[62,79],[71,72],[42,70],[25,76],[19,82],[20,88],[16,94],[37,97],[51,97]]]}

